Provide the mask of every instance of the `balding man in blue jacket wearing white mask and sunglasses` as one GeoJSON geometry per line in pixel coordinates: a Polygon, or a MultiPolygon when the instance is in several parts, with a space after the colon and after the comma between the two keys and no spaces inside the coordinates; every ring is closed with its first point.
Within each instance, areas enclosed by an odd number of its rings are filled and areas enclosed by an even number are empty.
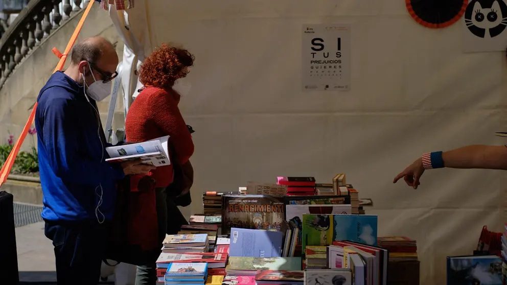
{"type": "Polygon", "coordinates": [[[53,241],[58,284],[97,284],[116,181],[154,169],[141,161],[109,164],[97,101],[111,92],[118,55],[106,39],[74,46],[71,65],[37,98],[35,128],[44,233],[53,241]],[[106,223],[104,223],[106,222],[106,223]]]}

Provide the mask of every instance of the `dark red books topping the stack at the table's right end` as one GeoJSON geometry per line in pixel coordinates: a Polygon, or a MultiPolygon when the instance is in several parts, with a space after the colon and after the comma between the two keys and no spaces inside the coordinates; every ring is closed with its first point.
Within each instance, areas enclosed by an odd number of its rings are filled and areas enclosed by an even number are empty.
{"type": "Polygon", "coordinates": [[[379,236],[379,247],[389,251],[389,260],[417,260],[417,242],[406,236],[379,236]]]}

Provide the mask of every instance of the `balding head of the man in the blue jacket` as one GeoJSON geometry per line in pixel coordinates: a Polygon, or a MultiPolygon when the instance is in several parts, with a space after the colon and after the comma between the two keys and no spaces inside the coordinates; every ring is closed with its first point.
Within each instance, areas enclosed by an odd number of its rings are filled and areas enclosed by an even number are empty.
{"type": "Polygon", "coordinates": [[[90,37],[74,45],[71,66],[66,74],[78,83],[87,84],[110,78],[118,66],[118,54],[112,43],[103,37],[90,37]]]}

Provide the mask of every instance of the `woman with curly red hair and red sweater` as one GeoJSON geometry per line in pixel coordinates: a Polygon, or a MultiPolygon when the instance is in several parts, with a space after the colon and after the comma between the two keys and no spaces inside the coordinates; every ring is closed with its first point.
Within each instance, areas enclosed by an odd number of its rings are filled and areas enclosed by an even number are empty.
{"type": "MultiPolygon", "coordinates": [[[[193,169],[190,157],[194,143],[190,131],[178,109],[181,96],[189,85],[181,79],[189,73],[194,56],[187,50],[162,44],[145,59],[140,70],[140,81],[145,88],[137,95],[127,113],[125,132],[128,142],[139,143],[169,135],[170,165],[158,167],[150,175],[155,179],[158,240],[160,247],[166,236],[168,205],[166,189],[174,181],[174,169],[183,169],[185,179],[192,184],[193,169]],[[190,176],[190,177],[188,177],[190,176]]],[[[178,175],[181,175],[178,172],[178,175]]],[[[177,177],[180,178],[180,177],[177,177]]],[[[176,208],[176,205],[170,207],[176,208]]],[[[176,208],[177,209],[177,208],[176,208]]],[[[172,209],[170,209],[172,210],[172,209]]],[[[156,260],[146,266],[137,266],[136,285],[154,285],[157,282],[156,260]]]]}

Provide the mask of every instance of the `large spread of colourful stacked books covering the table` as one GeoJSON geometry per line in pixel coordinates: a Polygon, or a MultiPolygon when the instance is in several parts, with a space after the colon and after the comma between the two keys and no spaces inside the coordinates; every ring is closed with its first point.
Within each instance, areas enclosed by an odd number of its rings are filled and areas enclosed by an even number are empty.
{"type": "Polygon", "coordinates": [[[344,174],[333,184],[248,182],[240,192],[202,196],[204,212],[164,242],[159,283],[386,285],[377,216],[354,215],[364,211],[344,174]]]}

